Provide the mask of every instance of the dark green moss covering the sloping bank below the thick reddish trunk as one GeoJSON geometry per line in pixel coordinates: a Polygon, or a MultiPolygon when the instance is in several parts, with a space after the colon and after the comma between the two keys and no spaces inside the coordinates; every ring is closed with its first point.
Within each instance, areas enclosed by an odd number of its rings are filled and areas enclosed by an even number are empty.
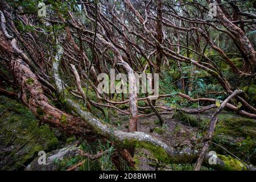
{"type": "MultiPolygon", "coordinates": [[[[58,146],[54,132],[48,125],[38,126],[38,120],[26,106],[0,96],[0,113],[7,108],[8,111],[0,116],[0,146],[4,144],[5,147],[14,148],[1,156],[3,160],[9,158],[1,170],[23,169],[39,151],[51,151],[58,146]]],[[[41,110],[38,111],[40,113],[41,110]]]]}

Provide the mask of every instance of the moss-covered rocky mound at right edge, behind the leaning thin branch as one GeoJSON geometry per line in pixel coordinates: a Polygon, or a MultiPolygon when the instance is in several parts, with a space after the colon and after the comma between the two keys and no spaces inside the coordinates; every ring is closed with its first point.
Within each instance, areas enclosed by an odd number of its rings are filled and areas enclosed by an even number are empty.
{"type": "MultiPolygon", "coordinates": [[[[256,122],[247,118],[228,118],[216,125],[213,142],[224,146],[246,163],[256,164],[256,122]]],[[[228,154],[218,146],[212,146],[219,154],[228,154]]]]}

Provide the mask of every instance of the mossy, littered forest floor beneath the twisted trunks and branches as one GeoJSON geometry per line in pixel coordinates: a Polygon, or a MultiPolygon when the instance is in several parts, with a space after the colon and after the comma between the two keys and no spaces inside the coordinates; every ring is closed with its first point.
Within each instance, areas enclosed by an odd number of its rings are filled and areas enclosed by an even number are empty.
{"type": "MultiPolygon", "coordinates": [[[[213,113],[214,109],[205,111],[200,115],[176,111],[162,116],[164,118],[163,126],[159,125],[159,119],[155,115],[140,117],[138,119],[138,131],[150,134],[172,147],[199,148],[200,143],[195,143],[196,137],[199,139],[204,136],[213,113]]],[[[236,155],[243,162],[255,165],[255,121],[225,110],[218,117],[219,122],[213,138],[213,142],[217,145],[212,144],[210,150],[217,151],[221,155],[236,155]]],[[[109,123],[122,131],[127,131],[128,121],[127,115],[115,113],[110,115],[109,123]]],[[[48,125],[39,125],[38,119],[26,106],[4,96],[0,96],[0,126],[1,170],[65,170],[82,160],[86,160],[79,156],[76,152],[77,149],[96,154],[99,150],[111,148],[111,146],[101,146],[98,142],[82,143],[80,147],[74,147],[79,138],[67,136],[48,125]],[[72,148],[72,152],[67,152],[61,156],[60,160],[52,160],[48,167],[42,168],[42,166],[35,165],[39,151],[46,151],[47,157],[49,157],[59,154],[60,151],[65,151],[68,147],[72,148]]],[[[193,164],[164,164],[143,148],[136,148],[134,160],[137,169],[141,170],[193,169],[193,164]]],[[[87,162],[77,169],[112,170],[114,167],[109,156],[104,156],[98,161],[87,162]]],[[[203,169],[211,170],[211,168],[206,167],[203,169]]]]}

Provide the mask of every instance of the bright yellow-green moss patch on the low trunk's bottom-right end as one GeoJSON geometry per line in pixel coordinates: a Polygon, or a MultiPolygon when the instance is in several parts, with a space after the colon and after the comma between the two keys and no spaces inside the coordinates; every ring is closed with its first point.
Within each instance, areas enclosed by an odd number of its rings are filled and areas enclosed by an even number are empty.
{"type": "Polygon", "coordinates": [[[242,171],[246,169],[245,164],[238,159],[234,159],[231,156],[217,155],[224,162],[226,170],[230,171],[242,171]]]}

